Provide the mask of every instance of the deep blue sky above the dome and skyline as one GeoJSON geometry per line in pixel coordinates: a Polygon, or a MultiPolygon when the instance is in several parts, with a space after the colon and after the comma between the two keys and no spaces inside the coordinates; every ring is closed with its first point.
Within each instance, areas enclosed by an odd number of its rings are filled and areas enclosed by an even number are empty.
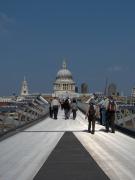
{"type": "Polygon", "coordinates": [[[0,0],[0,96],[50,93],[66,58],[90,92],[135,87],[134,0],[0,0]]]}

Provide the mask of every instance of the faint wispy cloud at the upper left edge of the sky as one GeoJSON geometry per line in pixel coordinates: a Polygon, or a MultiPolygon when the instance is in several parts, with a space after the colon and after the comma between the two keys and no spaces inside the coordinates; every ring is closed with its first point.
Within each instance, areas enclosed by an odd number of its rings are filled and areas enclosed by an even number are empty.
{"type": "Polygon", "coordinates": [[[0,12],[0,32],[7,32],[9,26],[14,22],[13,18],[7,14],[0,12]]]}

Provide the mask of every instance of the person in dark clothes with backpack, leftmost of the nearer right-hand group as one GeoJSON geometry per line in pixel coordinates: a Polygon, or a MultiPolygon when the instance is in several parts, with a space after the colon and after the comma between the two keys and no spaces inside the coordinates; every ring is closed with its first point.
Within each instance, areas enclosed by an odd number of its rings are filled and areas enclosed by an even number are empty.
{"type": "Polygon", "coordinates": [[[96,121],[96,107],[94,105],[94,100],[90,100],[88,110],[86,112],[85,119],[88,117],[88,132],[91,134],[95,133],[95,121],[96,121]],[[91,131],[92,126],[92,131],[91,131]]]}

